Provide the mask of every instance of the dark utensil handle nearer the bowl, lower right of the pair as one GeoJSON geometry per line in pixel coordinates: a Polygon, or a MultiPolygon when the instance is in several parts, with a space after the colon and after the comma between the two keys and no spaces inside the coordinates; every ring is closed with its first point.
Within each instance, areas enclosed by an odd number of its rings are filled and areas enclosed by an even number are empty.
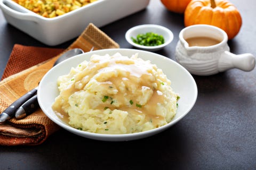
{"type": "Polygon", "coordinates": [[[39,108],[37,95],[31,97],[23,105],[21,105],[15,113],[15,117],[18,119],[24,118],[31,113],[34,113],[39,108]]]}

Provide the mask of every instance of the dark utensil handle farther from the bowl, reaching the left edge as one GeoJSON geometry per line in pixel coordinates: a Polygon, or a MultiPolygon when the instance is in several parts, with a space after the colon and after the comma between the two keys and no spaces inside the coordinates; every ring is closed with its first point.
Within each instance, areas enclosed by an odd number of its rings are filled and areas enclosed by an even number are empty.
{"type": "Polygon", "coordinates": [[[25,103],[28,99],[33,97],[37,92],[38,87],[35,89],[30,90],[25,95],[21,96],[19,99],[14,101],[9,107],[7,107],[2,114],[0,114],[0,123],[5,122],[6,120],[9,120],[15,115],[15,112],[17,109],[25,103]]]}

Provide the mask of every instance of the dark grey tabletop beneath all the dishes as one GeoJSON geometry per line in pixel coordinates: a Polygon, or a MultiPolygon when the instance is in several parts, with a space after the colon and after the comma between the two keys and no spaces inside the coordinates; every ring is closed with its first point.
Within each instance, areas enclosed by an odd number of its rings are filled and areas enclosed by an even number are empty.
{"type": "MultiPolygon", "coordinates": [[[[255,56],[256,1],[231,2],[241,13],[243,25],[228,42],[230,50],[255,56]]],[[[167,11],[158,0],[151,0],[146,10],[100,29],[121,48],[132,48],[125,32],[147,23],[173,31],[172,43],[156,53],[175,60],[183,15],[167,11]]],[[[0,77],[14,44],[49,47],[7,24],[2,11],[0,36],[0,77]]],[[[54,48],[66,48],[74,40],[54,48]]],[[[255,69],[193,77],[198,87],[195,106],[162,133],[135,141],[104,142],[60,130],[39,146],[0,146],[0,169],[256,169],[255,69]]]]}

